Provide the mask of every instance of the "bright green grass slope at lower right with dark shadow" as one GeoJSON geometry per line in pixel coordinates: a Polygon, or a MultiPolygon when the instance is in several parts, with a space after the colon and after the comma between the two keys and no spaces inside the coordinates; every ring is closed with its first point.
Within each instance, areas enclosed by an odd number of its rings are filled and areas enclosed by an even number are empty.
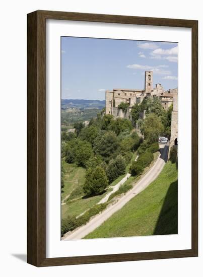
{"type": "Polygon", "coordinates": [[[177,170],[168,162],[158,178],[85,238],[177,234],[177,170]]]}

